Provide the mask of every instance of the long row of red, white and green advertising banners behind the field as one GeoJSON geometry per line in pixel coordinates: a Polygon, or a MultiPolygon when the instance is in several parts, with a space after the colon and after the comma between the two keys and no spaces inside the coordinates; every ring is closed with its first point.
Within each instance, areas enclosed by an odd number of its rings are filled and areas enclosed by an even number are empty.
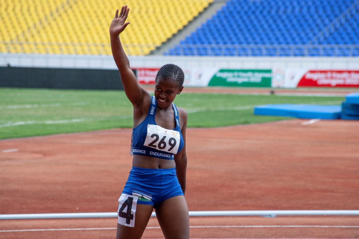
{"type": "MultiPolygon", "coordinates": [[[[155,83],[159,68],[136,68],[141,84],[155,83]]],[[[239,87],[359,87],[359,70],[311,70],[274,67],[272,69],[221,69],[184,67],[183,86],[239,87]]]]}

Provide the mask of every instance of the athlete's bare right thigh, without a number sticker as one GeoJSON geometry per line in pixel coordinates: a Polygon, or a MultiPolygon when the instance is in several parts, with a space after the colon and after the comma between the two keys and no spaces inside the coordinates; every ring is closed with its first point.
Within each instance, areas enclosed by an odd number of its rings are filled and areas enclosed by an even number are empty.
{"type": "Polygon", "coordinates": [[[156,208],[156,215],[166,239],[190,237],[190,218],[184,196],[171,197],[156,208]]]}

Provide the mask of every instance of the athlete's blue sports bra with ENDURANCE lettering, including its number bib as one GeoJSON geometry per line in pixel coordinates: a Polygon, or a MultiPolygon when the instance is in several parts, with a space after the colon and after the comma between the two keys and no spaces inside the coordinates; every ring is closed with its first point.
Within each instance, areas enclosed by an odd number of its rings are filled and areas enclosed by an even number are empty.
{"type": "Polygon", "coordinates": [[[183,136],[180,128],[180,121],[176,105],[172,103],[176,127],[165,129],[156,124],[155,114],[157,101],[151,97],[151,105],[147,117],[141,124],[132,129],[132,142],[130,154],[138,154],[162,159],[174,159],[183,149],[183,136]]]}

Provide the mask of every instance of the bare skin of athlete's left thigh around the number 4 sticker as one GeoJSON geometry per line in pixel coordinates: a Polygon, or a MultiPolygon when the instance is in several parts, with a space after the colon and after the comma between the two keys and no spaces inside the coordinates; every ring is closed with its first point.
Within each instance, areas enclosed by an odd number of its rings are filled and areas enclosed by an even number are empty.
{"type": "Polygon", "coordinates": [[[152,212],[153,206],[137,204],[135,226],[131,228],[117,223],[116,239],[141,238],[152,212]]]}

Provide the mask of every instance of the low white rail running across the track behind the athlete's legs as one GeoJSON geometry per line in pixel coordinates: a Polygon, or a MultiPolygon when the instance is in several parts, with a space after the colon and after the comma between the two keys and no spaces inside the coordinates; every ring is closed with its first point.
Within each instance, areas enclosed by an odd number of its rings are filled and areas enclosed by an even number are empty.
{"type": "MultiPolygon", "coordinates": [[[[260,211],[190,211],[190,216],[358,216],[359,210],[260,210],[260,211]]],[[[153,212],[151,217],[155,217],[153,212]]],[[[117,212],[2,214],[0,220],[11,219],[64,219],[64,218],[116,218],[117,212]]]]}

